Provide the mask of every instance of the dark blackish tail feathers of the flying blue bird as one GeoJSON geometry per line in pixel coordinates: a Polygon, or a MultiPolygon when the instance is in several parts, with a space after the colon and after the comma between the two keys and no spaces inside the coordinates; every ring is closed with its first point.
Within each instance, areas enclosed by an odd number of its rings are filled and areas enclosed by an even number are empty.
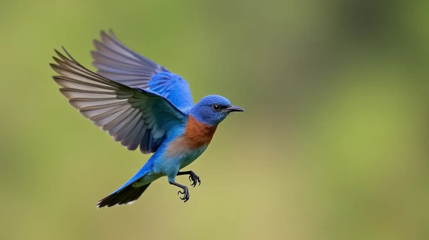
{"type": "Polygon", "coordinates": [[[148,186],[151,183],[148,183],[143,186],[139,187],[133,187],[133,184],[129,184],[128,186],[124,187],[123,189],[112,193],[111,195],[107,196],[106,198],[101,199],[97,203],[97,207],[112,207],[115,205],[122,205],[122,204],[133,204],[134,201],[137,200],[137,198],[142,195],[143,192],[148,188],[148,186]]]}

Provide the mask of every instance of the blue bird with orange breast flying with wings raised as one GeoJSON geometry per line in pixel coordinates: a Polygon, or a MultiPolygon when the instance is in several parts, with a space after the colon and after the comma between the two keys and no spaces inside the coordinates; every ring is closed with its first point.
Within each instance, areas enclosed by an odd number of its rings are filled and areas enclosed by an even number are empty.
{"type": "Polygon", "coordinates": [[[97,208],[132,204],[160,177],[181,190],[187,202],[189,189],[175,181],[188,175],[191,186],[201,184],[193,171],[180,171],[197,159],[231,112],[245,111],[220,95],[208,95],[194,104],[189,84],[165,67],[100,31],[93,41],[93,72],[76,61],[64,47],[51,68],[60,93],[69,105],[99,126],[128,150],[153,153],[127,183],[97,202],[97,208]]]}

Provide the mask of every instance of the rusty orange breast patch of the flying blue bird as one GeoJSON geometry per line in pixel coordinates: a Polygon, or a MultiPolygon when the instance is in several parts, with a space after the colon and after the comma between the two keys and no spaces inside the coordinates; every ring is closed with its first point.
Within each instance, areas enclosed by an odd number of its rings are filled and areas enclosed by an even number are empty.
{"type": "Polygon", "coordinates": [[[167,149],[167,153],[170,156],[175,156],[187,149],[196,149],[208,145],[217,128],[218,125],[209,126],[198,122],[190,115],[184,134],[171,142],[167,149]]]}

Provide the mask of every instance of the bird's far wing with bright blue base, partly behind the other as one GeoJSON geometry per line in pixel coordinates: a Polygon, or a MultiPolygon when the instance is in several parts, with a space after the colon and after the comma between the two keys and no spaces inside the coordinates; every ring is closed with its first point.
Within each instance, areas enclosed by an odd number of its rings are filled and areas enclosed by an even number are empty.
{"type": "Polygon", "coordinates": [[[165,67],[137,54],[120,42],[112,30],[100,33],[91,51],[97,73],[105,78],[160,93],[178,108],[193,106],[187,81],[165,67]]]}

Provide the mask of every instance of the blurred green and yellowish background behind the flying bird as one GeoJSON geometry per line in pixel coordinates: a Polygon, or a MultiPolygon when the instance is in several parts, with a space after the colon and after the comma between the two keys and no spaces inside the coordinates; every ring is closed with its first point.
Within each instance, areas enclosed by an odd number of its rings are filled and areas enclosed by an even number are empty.
{"type": "Polygon", "coordinates": [[[429,1],[0,2],[0,239],[429,239],[429,1]],[[149,158],[68,105],[64,45],[112,28],[246,109],[187,170],[97,210],[149,158]],[[186,176],[179,183],[190,185],[186,176]]]}

